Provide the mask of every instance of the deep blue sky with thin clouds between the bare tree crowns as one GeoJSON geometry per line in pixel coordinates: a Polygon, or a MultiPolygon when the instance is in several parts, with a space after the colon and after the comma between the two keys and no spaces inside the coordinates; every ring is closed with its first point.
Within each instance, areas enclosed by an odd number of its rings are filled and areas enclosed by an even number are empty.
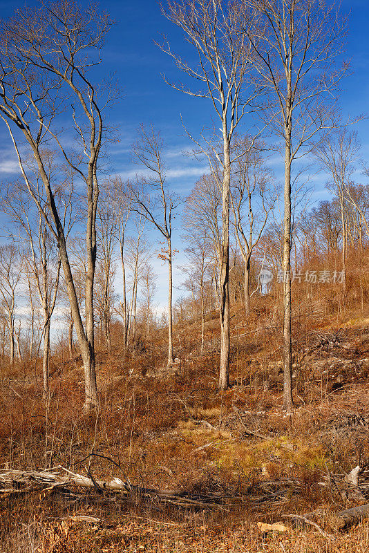
{"type": "MultiPolygon", "coordinates": [[[[85,2],[82,1],[82,4],[85,2]]],[[[23,3],[16,1],[1,2],[2,17],[8,17],[12,10],[23,3]]],[[[35,6],[33,1],[28,6],[35,6]]],[[[189,97],[170,88],[162,79],[166,73],[169,79],[180,80],[182,75],[171,59],[162,53],[154,41],[161,40],[161,34],[167,35],[173,49],[189,53],[189,46],[180,31],[160,13],[155,0],[105,1],[100,8],[111,14],[115,21],[106,39],[103,52],[104,68],[101,75],[115,73],[122,91],[121,99],[110,111],[111,123],[117,128],[120,142],[109,148],[109,172],[120,174],[123,178],[131,176],[136,167],[131,163],[130,145],[135,140],[135,130],[140,123],[153,123],[162,132],[167,142],[168,182],[173,189],[186,196],[196,180],[204,172],[205,162],[185,157],[182,151],[191,149],[191,142],[185,137],[180,117],[194,135],[198,135],[203,126],[211,124],[213,111],[209,100],[189,97]]],[[[351,59],[353,74],[342,83],[341,105],[343,112],[352,116],[369,113],[369,2],[367,0],[344,0],[343,12],[350,12],[350,35],[346,48],[346,57],[351,59]]],[[[245,121],[245,124],[247,122],[245,121]]],[[[244,127],[247,129],[247,126],[244,127]]],[[[363,157],[369,161],[369,121],[357,125],[359,138],[363,146],[363,157]]],[[[14,178],[17,162],[5,129],[0,124],[0,176],[5,181],[14,178]]],[[[276,174],[281,174],[281,163],[276,159],[276,174]]],[[[325,177],[314,178],[314,198],[321,200],[326,196],[325,177]]],[[[180,218],[177,218],[178,227],[180,218]]],[[[180,233],[180,229],[175,232],[180,233]]],[[[151,241],[155,234],[151,232],[151,241]]],[[[183,263],[182,245],[175,241],[180,253],[178,263],[183,263]]],[[[159,249],[159,246],[158,246],[159,249]]],[[[160,306],[165,305],[166,268],[155,261],[155,269],[160,272],[160,287],[156,297],[160,306]]],[[[178,290],[176,295],[183,294],[178,290]]]]}

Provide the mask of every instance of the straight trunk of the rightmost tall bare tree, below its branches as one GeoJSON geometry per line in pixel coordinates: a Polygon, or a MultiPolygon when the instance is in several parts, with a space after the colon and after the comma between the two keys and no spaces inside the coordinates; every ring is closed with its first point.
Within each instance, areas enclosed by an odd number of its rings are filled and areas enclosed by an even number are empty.
{"type": "Polygon", "coordinates": [[[291,134],[285,143],[285,215],[283,221],[283,409],[293,410],[291,338],[291,134]]]}

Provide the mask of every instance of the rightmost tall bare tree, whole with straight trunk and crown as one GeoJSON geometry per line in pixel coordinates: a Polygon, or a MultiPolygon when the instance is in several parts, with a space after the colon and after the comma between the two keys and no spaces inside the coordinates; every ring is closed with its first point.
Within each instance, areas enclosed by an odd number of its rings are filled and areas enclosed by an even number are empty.
{"type": "Polygon", "coordinates": [[[337,126],[337,86],[347,64],[335,67],[343,49],[346,20],[324,0],[248,0],[259,14],[263,32],[258,41],[245,34],[254,48],[250,61],[256,80],[265,86],[263,111],[271,129],[281,136],[285,159],[283,236],[283,406],[293,409],[291,335],[291,169],[310,151],[316,133],[337,126]]]}

